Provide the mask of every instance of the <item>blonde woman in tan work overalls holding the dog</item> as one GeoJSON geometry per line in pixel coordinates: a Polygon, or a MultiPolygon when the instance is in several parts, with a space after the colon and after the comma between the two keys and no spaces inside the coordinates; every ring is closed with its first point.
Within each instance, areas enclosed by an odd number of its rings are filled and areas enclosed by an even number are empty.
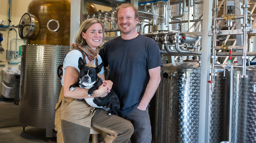
{"type": "Polygon", "coordinates": [[[55,130],[57,143],[88,143],[90,127],[100,129],[107,134],[104,143],[127,143],[134,131],[130,121],[118,116],[108,116],[108,112],[89,106],[81,98],[105,97],[112,87],[111,81],[104,81],[104,70],[100,72],[103,84],[88,96],[88,90],[76,87],[70,92],[69,86],[78,80],[79,57],[84,58],[87,66],[96,67],[102,60],[97,54],[99,45],[104,41],[103,25],[97,19],[88,19],[80,26],[75,44],[65,57],[63,64],[62,89],[56,104],[55,130]]]}

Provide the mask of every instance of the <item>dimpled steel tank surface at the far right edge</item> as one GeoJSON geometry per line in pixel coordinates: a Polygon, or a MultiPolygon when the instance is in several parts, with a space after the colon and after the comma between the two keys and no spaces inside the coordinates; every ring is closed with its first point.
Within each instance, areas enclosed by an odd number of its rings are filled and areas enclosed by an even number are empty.
{"type": "Polygon", "coordinates": [[[248,78],[240,78],[241,69],[234,70],[233,143],[256,143],[256,66],[246,70],[248,78]]]}

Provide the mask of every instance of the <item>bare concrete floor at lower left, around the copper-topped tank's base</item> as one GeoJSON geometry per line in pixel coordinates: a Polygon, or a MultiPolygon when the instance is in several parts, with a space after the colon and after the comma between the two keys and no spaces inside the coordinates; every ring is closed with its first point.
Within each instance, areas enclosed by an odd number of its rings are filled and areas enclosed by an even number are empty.
{"type": "MultiPolygon", "coordinates": [[[[14,99],[0,97],[0,143],[45,143],[49,141],[46,129],[19,126],[19,106],[14,104],[14,99]]],[[[52,143],[57,143],[57,138],[52,137],[52,143]]],[[[99,138],[99,142],[100,142],[99,138]]],[[[90,142],[92,137],[90,137],[90,142]]]]}

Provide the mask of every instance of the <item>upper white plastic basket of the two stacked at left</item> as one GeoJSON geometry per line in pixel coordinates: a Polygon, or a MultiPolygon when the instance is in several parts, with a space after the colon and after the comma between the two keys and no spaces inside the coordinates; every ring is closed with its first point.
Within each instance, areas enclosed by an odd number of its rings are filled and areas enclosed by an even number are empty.
{"type": "Polygon", "coordinates": [[[8,70],[8,68],[3,68],[3,71],[4,71],[3,78],[6,83],[14,83],[15,82],[14,73],[20,74],[20,70],[18,70],[17,68],[11,68],[10,70],[8,70]]]}

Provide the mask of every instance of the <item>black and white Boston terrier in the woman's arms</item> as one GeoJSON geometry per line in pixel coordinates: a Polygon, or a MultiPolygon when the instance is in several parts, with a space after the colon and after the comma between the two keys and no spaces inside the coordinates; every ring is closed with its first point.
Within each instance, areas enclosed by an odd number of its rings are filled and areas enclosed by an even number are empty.
{"type": "MultiPolygon", "coordinates": [[[[102,85],[101,78],[98,77],[98,73],[103,67],[103,62],[97,67],[86,66],[83,59],[80,57],[78,60],[79,80],[74,85],[69,87],[69,90],[73,92],[75,87],[86,88],[88,90],[88,96],[92,96],[93,92],[102,85]]],[[[94,98],[84,98],[85,101],[92,107],[101,108],[109,112],[108,116],[117,115],[120,102],[116,93],[111,89],[105,97],[94,97],[94,98]]]]}

